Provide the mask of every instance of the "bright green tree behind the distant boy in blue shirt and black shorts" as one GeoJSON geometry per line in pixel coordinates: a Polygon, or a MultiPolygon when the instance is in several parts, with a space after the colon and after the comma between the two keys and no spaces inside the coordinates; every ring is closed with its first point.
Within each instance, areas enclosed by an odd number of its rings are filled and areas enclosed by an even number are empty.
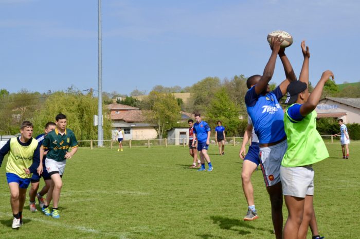
{"type": "Polygon", "coordinates": [[[228,135],[238,135],[240,124],[239,110],[230,99],[225,87],[216,92],[208,107],[207,120],[210,124],[215,125],[217,121],[221,121],[226,128],[228,135]]]}

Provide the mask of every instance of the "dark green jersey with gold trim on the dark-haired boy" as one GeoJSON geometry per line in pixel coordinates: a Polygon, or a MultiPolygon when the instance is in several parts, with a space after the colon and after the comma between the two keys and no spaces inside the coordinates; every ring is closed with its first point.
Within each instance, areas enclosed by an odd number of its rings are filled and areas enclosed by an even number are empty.
{"type": "MultiPolygon", "coordinates": [[[[69,148],[78,147],[78,141],[70,129],[65,129],[63,135],[61,135],[58,129],[49,132],[43,140],[43,146],[49,149],[46,157],[55,161],[65,160],[65,154],[69,151],[69,148]]],[[[45,158],[43,158],[45,160],[45,158]]]]}

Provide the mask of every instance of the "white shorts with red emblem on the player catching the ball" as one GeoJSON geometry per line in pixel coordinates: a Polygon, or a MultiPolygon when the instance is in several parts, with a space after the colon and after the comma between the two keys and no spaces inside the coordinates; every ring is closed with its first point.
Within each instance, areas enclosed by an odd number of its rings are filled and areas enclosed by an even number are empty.
{"type": "Polygon", "coordinates": [[[260,147],[260,165],[266,187],[280,182],[280,165],[286,149],[286,140],[277,145],[260,147]]]}

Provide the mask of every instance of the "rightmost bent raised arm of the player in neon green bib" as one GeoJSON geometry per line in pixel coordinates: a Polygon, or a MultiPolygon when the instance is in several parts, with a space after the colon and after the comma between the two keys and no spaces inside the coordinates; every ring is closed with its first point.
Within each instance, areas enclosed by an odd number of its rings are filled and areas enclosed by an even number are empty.
{"type": "Polygon", "coordinates": [[[330,77],[334,79],[334,74],[331,71],[327,70],[322,73],[320,81],[315,86],[313,92],[311,92],[308,101],[300,107],[300,114],[302,116],[307,116],[316,108],[321,97],[322,89],[330,77]]]}

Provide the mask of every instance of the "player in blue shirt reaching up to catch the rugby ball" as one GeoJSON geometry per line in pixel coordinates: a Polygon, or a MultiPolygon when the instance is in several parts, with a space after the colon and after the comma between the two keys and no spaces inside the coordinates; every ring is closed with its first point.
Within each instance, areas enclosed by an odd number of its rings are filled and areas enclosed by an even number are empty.
{"type": "Polygon", "coordinates": [[[286,88],[296,81],[293,68],[280,49],[283,39],[272,37],[270,47],[272,54],[265,66],[263,75],[250,76],[246,85],[249,90],[245,95],[246,110],[250,115],[255,133],[259,137],[260,164],[264,175],[266,190],[270,197],[272,219],[276,238],[282,238],[282,189],[280,182],[280,164],[286,151],[286,134],[284,132],[284,112],[279,104],[286,94],[286,88]],[[277,55],[279,54],[285,70],[286,79],[275,90],[270,91],[269,81],[273,77],[277,55]]]}

